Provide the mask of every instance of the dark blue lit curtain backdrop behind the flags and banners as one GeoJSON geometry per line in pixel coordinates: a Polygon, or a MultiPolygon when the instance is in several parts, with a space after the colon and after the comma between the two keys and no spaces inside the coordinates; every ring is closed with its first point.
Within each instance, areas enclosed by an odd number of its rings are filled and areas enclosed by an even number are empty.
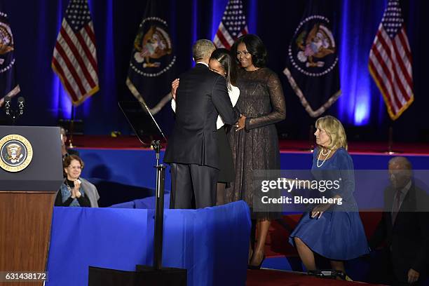
{"type": "MultiPolygon", "coordinates": [[[[6,1],[5,1],[6,2],[6,1]]],[[[244,0],[250,33],[258,34],[268,48],[268,67],[280,76],[287,102],[286,121],[278,124],[279,134],[288,138],[307,138],[314,123],[282,74],[290,39],[301,20],[306,1],[244,0]]],[[[429,67],[429,11],[425,0],[402,0],[402,13],[413,55],[414,103],[395,122],[390,121],[379,90],[367,68],[369,49],[381,21],[387,0],[332,0],[334,33],[340,49],[341,90],[343,95],[327,114],[341,119],[351,139],[387,138],[393,126],[398,141],[417,141],[429,132],[425,120],[429,97],[425,78],[429,67]],[[359,136],[357,136],[359,135],[359,136]]],[[[191,44],[196,39],[212,39],[227,0],[165,0],[170,18],[172,41],[177,55],[177,76],[192,67],[191,44]]],[[[67,0],[7,1],[13,35],[21,96],[27,100],[22,125],[56,125],[71,117],[71,104],[57,76],[50,68],[53,46],[67,7],[67,0]],[[25,7],[24,7],[25,6],[25,7]]],[[[142,20],[146,1],[89,0],[95,27],[100,70],[100,91],[76,108],[86,134],[109,134],[130,128],[118,110],[119,100],[132,100],[125,86],[130,50],[142,20]]],[[[169,84],[169,83],[166,83],[169,84]]],[[[168,107],[167,107],[168,108],[168,107]]],[[[4,121],[1,113],[0,121],[4,121]]],[[[163,126],[169,130],[170,126],[163,126]]],[[[428,137],[428,135],[426,135],[428,137]]]]}

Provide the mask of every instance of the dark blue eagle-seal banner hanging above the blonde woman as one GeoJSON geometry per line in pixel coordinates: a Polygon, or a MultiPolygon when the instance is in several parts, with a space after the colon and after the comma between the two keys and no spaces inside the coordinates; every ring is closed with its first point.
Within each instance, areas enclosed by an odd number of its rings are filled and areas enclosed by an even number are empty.
{"type": "Polygon", "coordinates": [[[329,18],[326,1],[307,2],[283,71],[311,117],[323,114],[341,94],[338,45],[329,18]]]}

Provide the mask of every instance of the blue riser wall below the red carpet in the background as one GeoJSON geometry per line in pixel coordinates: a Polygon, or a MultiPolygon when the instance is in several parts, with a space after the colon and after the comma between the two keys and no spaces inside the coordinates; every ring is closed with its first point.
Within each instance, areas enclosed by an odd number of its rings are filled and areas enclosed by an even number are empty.
{"type": "MultiPolygon", "coordinates": [[[[101,197],[99,201],[101,206],[154,196],[156,187],[156,172],[153,167],[155,165],[154,151],[79,149],[79,152],[86,162],[82,177],[90,178],[90,181],[97,186],[101,197]],[[134,190],[133,187],[138,188],[134,190]]],[[[164,152],[161,151],[161,160],[163,154],[164,152]]],[[[354,194],[358,207],[360,210],[362,208],[380,208],[383,205],[382,190],[388,184],[386,173],[388,161],[393,156],[351,154],[351,157],[355,168],[355,182],[357,182],[354,194]],[[383,172],[383,170],[385,171],[383,172]]],[[[429,186],[429,177],[425,175],[427,172],[424,171],[428,169],[429,156],[407,156],[407,158],[412,163],[414,170],[423,170],[417,172],[416,177],[419,177],[429,186]]],[[[311,153],[280,154],[281,170],[309,170],[311,162],[311,153]]],[[[170,172],[167,168],[165,172],[166,193],[170,190],[170,183],[170,172]]],[[[154,206],[154,202],[144,204],[154,206]]],[[[133,207],[134,205],[131,203],[130,206],[133,207]]]]}

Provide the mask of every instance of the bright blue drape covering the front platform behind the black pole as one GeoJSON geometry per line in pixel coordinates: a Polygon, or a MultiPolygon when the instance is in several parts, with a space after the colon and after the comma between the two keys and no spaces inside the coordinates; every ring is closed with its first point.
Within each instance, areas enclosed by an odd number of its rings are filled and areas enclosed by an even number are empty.
{"type": "MultiPolygon", "coordinates": [[[[153,263],[154,210],[54,207],[49,286],[88,285],[88,266],[134,271],[153,263]]],[[[163,266],[186,268],[188,286],[244,285],[250,212],[243,201],[165,210],[163,266]]]]}

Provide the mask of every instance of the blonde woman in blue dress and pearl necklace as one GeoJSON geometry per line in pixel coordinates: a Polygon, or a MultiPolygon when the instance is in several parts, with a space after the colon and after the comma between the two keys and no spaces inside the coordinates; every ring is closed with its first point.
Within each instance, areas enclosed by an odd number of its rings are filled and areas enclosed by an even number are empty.
{"type": "MultiPolygon", "coordinates": [[[[347,153],[347,139],[341,122],[333,116],[318,118],[314,133],[318,147],[313,152],[313,177],[339,180],[338,189],[322,195],[341,199],[339,204],[311,207],[290,235],[307,270],[315,270],[314,253],[330,260],[332,268],[345,272],[343,261],[369,252],[365,231],[353,197],[353,161],[347,153]],[[341,178],[341,179],[339,179],[341,178]]],[[[338,201],[338,200],[337,200],[338,201]]]]}

